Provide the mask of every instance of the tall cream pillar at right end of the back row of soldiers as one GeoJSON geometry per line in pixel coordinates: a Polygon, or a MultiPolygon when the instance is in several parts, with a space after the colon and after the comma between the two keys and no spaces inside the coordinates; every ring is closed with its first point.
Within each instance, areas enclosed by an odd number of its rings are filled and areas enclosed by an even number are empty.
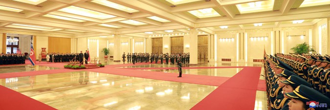
{"type": "Polygon", "coordinates": [[[197,38],[197,29],[190,28],[189,37],[190,37],[190,64],[197,64],[198,63],[198,38],[197,38]]]}

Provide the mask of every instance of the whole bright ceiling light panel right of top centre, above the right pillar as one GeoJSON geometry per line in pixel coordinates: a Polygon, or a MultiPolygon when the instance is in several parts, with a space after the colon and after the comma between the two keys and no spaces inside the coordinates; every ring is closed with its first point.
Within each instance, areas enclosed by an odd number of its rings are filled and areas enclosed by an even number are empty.
{"type": "Polygon", "coordinates": [[[205,8],[199,10],[188,11],[198,18],[209,18],[209,17],[219,17],[221,16],[216,10],[213,8],[205,8]]]}

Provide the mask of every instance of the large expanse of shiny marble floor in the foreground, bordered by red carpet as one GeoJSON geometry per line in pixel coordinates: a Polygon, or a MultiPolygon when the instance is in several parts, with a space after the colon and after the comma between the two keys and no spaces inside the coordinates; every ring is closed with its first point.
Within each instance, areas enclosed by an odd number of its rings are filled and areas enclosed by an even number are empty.
{"type": "Polygon", "coordinates": [[[87,71],[0,82],[59,110],[189,110],[218,88],[87,71]]]}

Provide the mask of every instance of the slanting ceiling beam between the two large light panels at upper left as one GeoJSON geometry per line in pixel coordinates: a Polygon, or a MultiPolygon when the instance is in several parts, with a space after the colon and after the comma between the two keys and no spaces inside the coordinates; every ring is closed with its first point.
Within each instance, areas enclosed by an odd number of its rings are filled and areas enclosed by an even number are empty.
{"type": "Polygon", "coordinates": [[[117,11],[117,10],[112,9],[110,7],[109,8],[101,7],[101,6],[98,6],[98,5],[95,5],[95,4],[90,4],[90,3],[87,3],[87,2],[82,2],[82,3],[79,3],[79,4],[75,4],[75,6],[78,6],[78,7],[81,7],[81,8],[86,8],[86,9],[97,11],[97,12],[101,12],[101,13],[105,13],[105,14],[109,14],[109,15],[114,15],[114,16],[117,16],[117,17],[126,18],[126,19],[131,18],[131,15],[129,15],[128,13],[120,12],[120,11],[117,11]]]}

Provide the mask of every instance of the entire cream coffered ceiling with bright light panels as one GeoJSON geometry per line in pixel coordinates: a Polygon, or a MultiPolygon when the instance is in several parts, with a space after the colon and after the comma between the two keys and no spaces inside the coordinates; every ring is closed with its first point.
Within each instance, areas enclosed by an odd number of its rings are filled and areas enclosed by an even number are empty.
{"type": "Polygon", "coordinates": [[[327,17],[330,0],[0,0],[0,29],[72,37],[214,33],[327,17]]]}

